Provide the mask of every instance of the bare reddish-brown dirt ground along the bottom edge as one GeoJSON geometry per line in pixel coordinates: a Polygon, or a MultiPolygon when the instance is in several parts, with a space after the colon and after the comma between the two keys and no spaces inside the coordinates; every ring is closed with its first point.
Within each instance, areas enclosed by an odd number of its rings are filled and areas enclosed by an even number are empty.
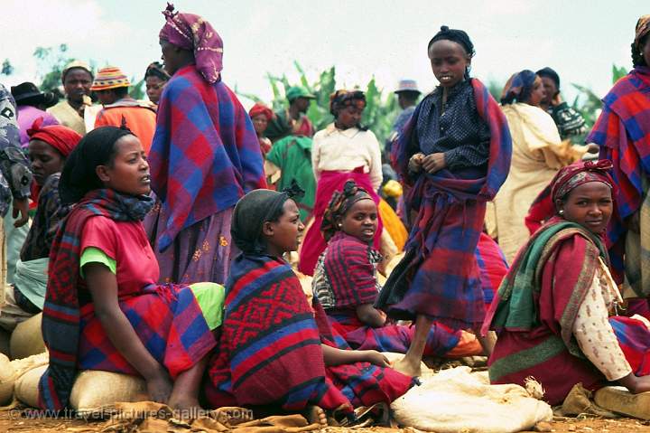
{"type": "MultiPolygon", "coordinates": [[[[0,411],[0,433],[38,431],[44,433],[100,432],[103,421],[85,421],[83,419],[26,419],[20,409],[0,411]]],[[[650,421],[639,419],[555,419],[549,423],[550,429],[557,433],[564,432],[598,432],[598,433],[629,433],[650,432],[650,421]]],[[[188,430],[189,431],[189,430],[188,430]]],[[[343,433],[354,431],[356,433],[417,433],[415,428],[324,428],[323,433],[343,433]]]]}

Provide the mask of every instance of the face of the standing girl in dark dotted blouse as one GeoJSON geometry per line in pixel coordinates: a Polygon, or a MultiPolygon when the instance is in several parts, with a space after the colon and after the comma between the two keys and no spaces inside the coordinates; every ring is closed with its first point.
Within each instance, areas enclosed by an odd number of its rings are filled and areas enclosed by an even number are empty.
{"type": "Polygon", "coordinates": [[[451,88],[465,79],[471,58],[459,43],[447,40],[432,43],[429,49],[433,75],[441,86],[451,88]]]}

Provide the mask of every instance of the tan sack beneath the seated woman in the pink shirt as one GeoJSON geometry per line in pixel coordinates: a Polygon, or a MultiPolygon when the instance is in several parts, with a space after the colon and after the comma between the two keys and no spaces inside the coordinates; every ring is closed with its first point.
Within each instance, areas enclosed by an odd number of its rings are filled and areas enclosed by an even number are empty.
{"type": "Polygon", "coordinates": [[[97,370],[80,372],[70,394],[72,408],[81,415],[118,401],[144,400],[148,400],[148,395],[142,378],[97,370]]]}

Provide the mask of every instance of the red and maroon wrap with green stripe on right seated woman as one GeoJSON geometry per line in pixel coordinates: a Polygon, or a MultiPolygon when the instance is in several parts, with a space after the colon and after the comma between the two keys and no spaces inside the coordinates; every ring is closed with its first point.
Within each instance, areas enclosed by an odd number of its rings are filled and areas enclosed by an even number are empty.
{"type": "MultiPolygon", "coordinates": [[[[521,277],[519,260],[532,248],[544,230],[555,224],[564,223],[552,219],[544,228],[537,231],[528,244],[519,251],[515,263],[506,275],[507,280],[521,277]]],[[[530,312],[515,311],[509,306],[509,314],[517,321],[521,315],[531,315],[530,324],[508,325],[509,316],[503,328],[497,328],[498,338],[494,352],[490,356],[490,381],[492,383],[525,384],[528,376],[540,381],[546,391],[544,400],[550,404],[560,404],[574,384],[582,382],[588,390],[596,390],[606,382],[605,376],[584,358],[572,336],[578,308],[587,295],[601,253],[591,240],[589,233],[577,228],[565,228],[549,240],[544,247],[542,261],[536,265],[540,269],[538,283],[532,289],[530,312]],[[525,356],[524,356],[524,353],[525,356]]],[[[506,282],[504,284],[506,284],[506,282]]],[[[524,287],[525,283],[521,284],[524,287]]],[[[515,285],[515,290],[518,286],[515,285]]],[[[502,289],[504,286],[502,286],[502,289]]],[[[518,292],[523,292],[523,289],[518,292]]],[[[524,298],[526,293],[515,293],[512,299],[524,298]]],[[[493,317],[499,317],[504,309],[499,290],[486,315],[484,331],[493,317]]],[[[522,301],[521,304],[524,304],[522,301]]]]}

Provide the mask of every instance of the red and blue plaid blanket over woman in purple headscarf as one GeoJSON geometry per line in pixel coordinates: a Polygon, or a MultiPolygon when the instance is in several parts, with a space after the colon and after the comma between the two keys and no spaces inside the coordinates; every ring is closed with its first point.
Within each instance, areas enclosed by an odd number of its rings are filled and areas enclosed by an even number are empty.
{"type": "Polygon", "coordinates": [[[265,188],[264,162],[253,123],[235,93],[209,84],[190,65],[165,85],[149,154],[152,188],[171,212],[157,244],[265,188]]]}

